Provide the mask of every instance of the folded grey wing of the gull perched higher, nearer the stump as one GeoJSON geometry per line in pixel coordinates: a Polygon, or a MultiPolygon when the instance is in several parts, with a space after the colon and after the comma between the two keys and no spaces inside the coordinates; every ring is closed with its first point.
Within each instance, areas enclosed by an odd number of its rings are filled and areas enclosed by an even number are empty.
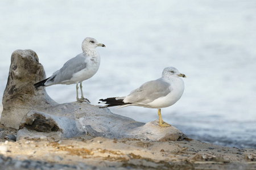
{"type": "Polygon", "coordinates": [[[70,80],[74,73],[86,68],[87,63],[85,62],[85,58],[86,56],[81,53],[76,57],[69,59],[64,63],[60,70],[57,70],[52,74],[52,76],[47,80],[46,85],[59,84],[63,81],[70,80]]]}

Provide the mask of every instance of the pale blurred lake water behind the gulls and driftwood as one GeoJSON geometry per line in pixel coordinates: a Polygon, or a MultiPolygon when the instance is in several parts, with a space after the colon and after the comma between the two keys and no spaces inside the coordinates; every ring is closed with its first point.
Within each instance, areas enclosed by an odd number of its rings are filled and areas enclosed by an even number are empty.
{"type": "MultiPolygon", "coordinates": [[[[0,23],[0,96],[14,50],[34,50],[50,76],[94,37],[106,48],[97,48],[100,69],[83,83],[92,104],[174,66],[187,75],[185,91],[163,120],[193,139],[256,148],[256,1],[1,1],[0,23]]],[[[75,84],[47,92],[58,103],[76,100],[75,84]]],[[[110,109],[158,118],[157,109],[110,109]]]]}

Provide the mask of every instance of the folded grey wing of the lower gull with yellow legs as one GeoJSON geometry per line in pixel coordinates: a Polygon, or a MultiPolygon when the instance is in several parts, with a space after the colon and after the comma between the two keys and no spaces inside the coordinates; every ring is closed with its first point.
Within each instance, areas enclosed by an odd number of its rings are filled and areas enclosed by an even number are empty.
{"type": "Polygon", "coordinates": [[[162,78],[152,80],[132,91],[123,101],[125,103],[150,103],[159,97],[168,95],[171,92],[169,87],[170,84],[165,82],[162,78]]]}

